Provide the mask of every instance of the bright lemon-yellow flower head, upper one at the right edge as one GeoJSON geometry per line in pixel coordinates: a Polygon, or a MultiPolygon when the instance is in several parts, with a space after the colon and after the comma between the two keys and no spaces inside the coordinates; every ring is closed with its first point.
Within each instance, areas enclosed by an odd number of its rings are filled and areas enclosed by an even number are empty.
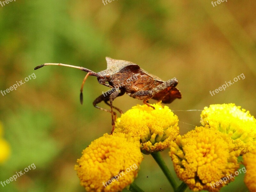
{"type": "Polygon", "coordinates": [[[249,111],[233,103],[205,107],[201,114],[202,125],[209,124],[228,134],[241,154],[256,148],[256,120],[249,111]]]}

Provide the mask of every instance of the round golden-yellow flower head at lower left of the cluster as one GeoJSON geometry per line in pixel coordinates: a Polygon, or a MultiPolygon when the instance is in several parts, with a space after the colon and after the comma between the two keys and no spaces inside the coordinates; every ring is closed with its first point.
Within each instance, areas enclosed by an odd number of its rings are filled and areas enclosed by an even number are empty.
{"type": "Polygon", "coordinates": [[[140,142],[124,133],[104,134],[83,150],[75,170],[86,191],[122,191],[137,177],[140,142]]]}

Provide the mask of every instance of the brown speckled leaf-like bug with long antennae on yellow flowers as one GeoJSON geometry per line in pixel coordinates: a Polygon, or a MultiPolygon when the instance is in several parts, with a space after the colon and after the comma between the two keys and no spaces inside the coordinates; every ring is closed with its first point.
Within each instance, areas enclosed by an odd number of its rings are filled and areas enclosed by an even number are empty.
{"type": "Polygon", "coordinates": [[[148,103],[149,99],[162,101],[163,103],[171,103],[176,98],[181,98],[180,91],[176,88],[176,85],[178,84],[176,77],[168,81],[163,81],[159,77],[143,70],[135,63],[124,60],[115,60],[109,57],[106,57],[106,60],[107,69],[98,73],[84,67],[66,65],[62,63],[45,63],[35,67],[34,70],[42,68],[46,65],[60,65],[77,68],[87,72],[80,90],[81,104],[83,104],[83,87],[88,76],[96,76],[100,84],[111,88],[107,92],[102,93],[93,101],[94,107],[111,113],[112,130],[110,134],[112,134],[115,130],[115,121],[117,117],[116,112],[113,111],[113,108],[116,109],[120,114],[123,113],[121,109],[113,106],[113,100],[115,100],[116,97],[124,95],[125,92],[130,97],[143,100],[143,103],[151,108],[154,107],[148,103]],[[97,104],[101,101],[104,101],[107,105],[109,105],[110,110],[97,106],[97,104]]]}

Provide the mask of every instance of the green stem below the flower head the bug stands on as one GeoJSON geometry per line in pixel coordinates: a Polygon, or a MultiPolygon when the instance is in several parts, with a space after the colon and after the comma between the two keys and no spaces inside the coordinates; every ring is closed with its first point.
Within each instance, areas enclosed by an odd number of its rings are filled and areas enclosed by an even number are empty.
{"type": "Polygon", "coordinates": [[[172,188],[176,191],[176,188],[178,187],[177,183],[175,182],[174,178],[171,175],[171,172],[169,171],[168,167],[164,163],[164,160],[159,152],[157,153],[151,153],[153,158],[155,159],[156,163],[159,165],[159,167],[164,172],[164,175],[167,177],[168,181],[172,185],[172,188]]]}

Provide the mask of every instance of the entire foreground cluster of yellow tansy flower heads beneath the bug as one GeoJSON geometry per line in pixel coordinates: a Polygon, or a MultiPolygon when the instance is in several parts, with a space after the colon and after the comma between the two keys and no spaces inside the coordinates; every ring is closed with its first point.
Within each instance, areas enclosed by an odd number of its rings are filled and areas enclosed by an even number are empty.
{"type": "Polygon", "coordinates": [[[256,120],[249,111],[235,104],[210,105],[201,113],[203,126],[181,136],[178,117],[167,106],[153,106],[132,107],[116,120],[113,135],[104,134],[84,149],[75,169],[86,191],[128,188],[137,177],[142,153],[152,154],[159,164],[158,152],[168,147],[177,176],[193,191],[215,192],[233,181],[239,155],[244,155],[248,170],[245,183],[256,190],[256,120]]]}

